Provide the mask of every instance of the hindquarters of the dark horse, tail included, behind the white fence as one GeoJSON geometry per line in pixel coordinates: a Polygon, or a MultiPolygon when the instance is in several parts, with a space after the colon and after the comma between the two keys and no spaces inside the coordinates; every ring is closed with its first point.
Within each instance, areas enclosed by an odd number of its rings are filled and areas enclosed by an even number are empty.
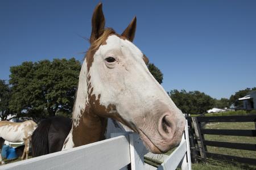
{"type": "Polygon", "coordinates": [[[71,126],[71,118],[66,117],[50,117],[40,121],[31,137],[32,156],[61,151],[71,126]]]}

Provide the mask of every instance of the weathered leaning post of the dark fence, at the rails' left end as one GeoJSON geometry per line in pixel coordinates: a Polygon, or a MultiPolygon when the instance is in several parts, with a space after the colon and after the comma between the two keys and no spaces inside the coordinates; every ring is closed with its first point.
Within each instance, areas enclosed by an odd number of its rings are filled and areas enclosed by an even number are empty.
{"type": "Polygon", "coordinates": [[[192,118],[192,122],[193,122],[193,126],[195,128],[195,134],[196,134],[196,138],[197,138],[197,143],[199,146],[199,150],[200,150],[200,155],[202,160],[205,162],[206,161],[206,155],[205,155],[205,149],[204,149],[204,143],[203,143],[203,139],[201,137],[201,130],[197,121],[197,117],[191,117],[192,118]]]}

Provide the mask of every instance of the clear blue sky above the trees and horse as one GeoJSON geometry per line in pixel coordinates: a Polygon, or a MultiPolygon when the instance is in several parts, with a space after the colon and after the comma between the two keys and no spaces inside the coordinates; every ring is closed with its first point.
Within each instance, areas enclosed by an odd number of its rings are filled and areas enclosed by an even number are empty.
{"type": "MultiPolygon", "coordinates": [[[[0,79],[24,61],[82,61],[98,1],[0,1],[0,79]]],[[[256,1],[102,1],[118,33],[137,16],[134,44],[166,91],[230,97],[256,86],[256,1]]]]}

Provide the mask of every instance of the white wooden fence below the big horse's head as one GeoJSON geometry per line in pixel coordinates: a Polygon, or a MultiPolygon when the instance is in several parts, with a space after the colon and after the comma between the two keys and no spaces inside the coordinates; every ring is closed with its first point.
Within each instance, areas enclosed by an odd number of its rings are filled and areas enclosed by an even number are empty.
{"type": "MultiPolygon", "coordinates": [[[[146,154],[141,139],[135,133],[112,134],[113,138],[91,143],[67,151],[55,152],[36,158],[1,165],[0,169],[191,169],[188,126],[180,145],[166,158],[160,167],[144,164],[146,154]],[[117,137],[115,137],[117,136],[117,137]]],[[[148,154],[147,154],[148,155],[148,154]]],[[[155,154],[150,154],[152,157],[155,154]]]]}

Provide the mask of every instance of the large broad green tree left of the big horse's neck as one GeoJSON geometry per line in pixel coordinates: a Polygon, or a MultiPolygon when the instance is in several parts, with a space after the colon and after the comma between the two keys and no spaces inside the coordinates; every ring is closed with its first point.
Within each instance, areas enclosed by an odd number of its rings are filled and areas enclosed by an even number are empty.
{"type": "Polygon", "coordinates": [[[23,62],[11,67],[11,111],[37,118],[71,113],[80,69],[75,58],[23,62]]]}

